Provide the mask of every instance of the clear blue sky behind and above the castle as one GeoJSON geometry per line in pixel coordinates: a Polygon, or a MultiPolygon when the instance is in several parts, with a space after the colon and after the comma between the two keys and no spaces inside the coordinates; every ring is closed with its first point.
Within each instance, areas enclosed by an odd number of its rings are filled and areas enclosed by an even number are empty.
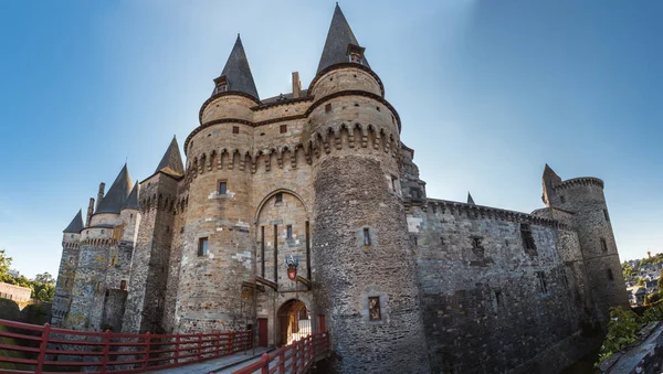
{"type": "MultiPolygon", "coordinates": [[[[334,1],[0,1],[0,248],[57,273],[128,159],[198,125],[236,33],[261,97],[308,86],[334,1]]],[[[341,1],[431,197],[530,212],[549,163],[606,182],[621,259],[663,252],[663,2],[341,1]]]]}

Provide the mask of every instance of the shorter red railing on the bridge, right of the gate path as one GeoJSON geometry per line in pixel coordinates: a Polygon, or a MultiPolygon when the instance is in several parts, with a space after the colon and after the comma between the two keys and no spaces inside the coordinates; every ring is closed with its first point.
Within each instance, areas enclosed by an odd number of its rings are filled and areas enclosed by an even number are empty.
{"type": "Polygon", "coordinates": [[[304,373],[313,363],[326,357],[328,353],[329,334],[316,332],[299,341],[294,341],[272,354],[263,353],[259,362],[232,374],[304,373]]]}

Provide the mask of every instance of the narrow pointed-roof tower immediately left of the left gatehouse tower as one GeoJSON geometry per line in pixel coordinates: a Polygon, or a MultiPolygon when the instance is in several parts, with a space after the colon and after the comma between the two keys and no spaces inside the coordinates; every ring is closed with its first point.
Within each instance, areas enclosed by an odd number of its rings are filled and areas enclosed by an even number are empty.
{"type": "Polygon", "coordinates": [[[140,182],[140,186],[134,186],[122,211],[123,221],[127,224],[125,239],[135,237],[136,243],[124,332],[164,331],[161,320],[170,271],[175,204],[178,182],[182,177],[182,159],[173,137],[155,173],[140,182]],[[138,222],[131,221],[134,214],[138,222]]]}

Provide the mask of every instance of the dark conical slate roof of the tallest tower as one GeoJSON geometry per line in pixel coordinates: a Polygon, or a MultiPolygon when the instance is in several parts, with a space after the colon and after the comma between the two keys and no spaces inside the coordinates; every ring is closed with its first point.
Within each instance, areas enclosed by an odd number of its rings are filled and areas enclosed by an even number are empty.
{"type": "MultiPolygon", "coordinates": [[[[359,45],[357,38],[355,38],[355,34],[352,33],[352,29],[350,29],[350,25],[345,19],[345,15],[343,15],[343,11],[337,2],[317,73],[332,65],[348,62],[349,44],[359,45]]],[[[364,57],[364,65],[370,67],[366,57],[364,57]]]]}

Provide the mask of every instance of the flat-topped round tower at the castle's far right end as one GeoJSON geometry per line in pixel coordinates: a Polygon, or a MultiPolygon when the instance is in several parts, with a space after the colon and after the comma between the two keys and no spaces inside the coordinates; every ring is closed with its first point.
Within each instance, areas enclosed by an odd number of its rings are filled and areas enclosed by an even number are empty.
{"type": "Polygon", "coordinates": [[[543,177],[544,202],[549,207],[571,212],[570,223],[578,232],[596,316],[606,325],[610,307],[628,307],[624,279],[603,195],[603,181],[583,177],[562,181],[546,164],[543,177]]]}

